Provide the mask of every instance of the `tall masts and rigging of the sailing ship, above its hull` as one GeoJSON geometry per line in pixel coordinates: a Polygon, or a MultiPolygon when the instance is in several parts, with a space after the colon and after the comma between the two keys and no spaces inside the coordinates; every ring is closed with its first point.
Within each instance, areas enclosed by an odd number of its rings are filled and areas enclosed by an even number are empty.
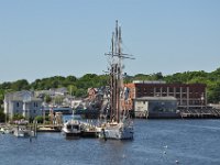
{"type": "Polygon", "coordinates": [[[121,120],[121,95],[123,92],[122,59],[131,58],[131,55],[123,54],[121,37],[121,26],[116,21],[116,33],[112,33],[111,52],[105,55],[111,57],[110,62],[110,120],[120,122],[121,120]]]}

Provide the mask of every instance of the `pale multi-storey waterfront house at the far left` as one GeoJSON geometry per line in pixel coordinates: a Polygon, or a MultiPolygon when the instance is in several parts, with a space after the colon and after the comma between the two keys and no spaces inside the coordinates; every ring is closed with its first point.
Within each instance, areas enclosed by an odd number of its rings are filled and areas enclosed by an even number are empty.
{"type": "Polygon", "coordinates": [[[10,92],[4,96],[4,113],[10,118],[16,113],[24,118],[35,118],[42,116],[42,102],[32,91],[10,92]]]}

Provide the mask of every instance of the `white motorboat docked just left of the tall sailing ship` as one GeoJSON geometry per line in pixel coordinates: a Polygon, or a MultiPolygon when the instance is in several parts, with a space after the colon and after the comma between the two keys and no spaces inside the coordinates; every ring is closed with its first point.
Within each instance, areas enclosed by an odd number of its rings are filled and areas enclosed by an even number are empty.
{"type": "Polygon", "coordinates": [[[77,120],[65,122],[62,132],[66,139],[79,138],[81,135],[80,122],[77,120]]]}

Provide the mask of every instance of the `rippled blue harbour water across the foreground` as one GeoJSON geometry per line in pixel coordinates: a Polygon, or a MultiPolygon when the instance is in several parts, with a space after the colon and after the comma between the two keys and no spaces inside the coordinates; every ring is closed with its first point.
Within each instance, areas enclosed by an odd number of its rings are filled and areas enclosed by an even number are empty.
{"type": "Polygon", "coordinates": [[[30,143],[0,134],[0,165],[220,164],[220,120],[135,120],[134,127],[133,141],[38,133],[30,143]]]}

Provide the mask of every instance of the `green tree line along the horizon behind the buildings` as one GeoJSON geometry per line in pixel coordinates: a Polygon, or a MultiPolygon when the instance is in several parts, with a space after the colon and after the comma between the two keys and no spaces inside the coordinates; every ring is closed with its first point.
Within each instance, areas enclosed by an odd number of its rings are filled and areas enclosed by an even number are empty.
{"type": "MultiPolygon", "coordinates": [[[[169,84],[206,84],[208,91],[208,102],[218,103],[220,101],[220,68],[206,73],[184,72],[164,76],[162,73],[138,74],[134,76],[124,75],[124,82],[133,80],[164,80],[169,84]]],[[[26,79],[16,81],[6,81],[0,84],[0,105],[3,103],[4,94],[20,90],[48,90],[51,88],[66,87],[68,92],[75,97],[86,97],[87,89],[108,86],[110,82],[109,75],[86,74],[80,78],[76,76],[54,76],[48,78],[36,79],[29,82],[26,79]]]]}

